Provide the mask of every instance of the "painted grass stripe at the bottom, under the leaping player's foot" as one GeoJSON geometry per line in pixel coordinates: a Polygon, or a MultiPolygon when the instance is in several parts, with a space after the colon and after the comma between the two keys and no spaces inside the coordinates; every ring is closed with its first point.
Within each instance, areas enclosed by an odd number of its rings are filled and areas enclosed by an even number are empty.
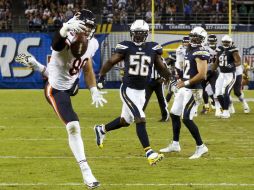
{"type": "MultiPolygon", "coordinates": [[[[0,183],[0,186],[85,186],[83,183],[0,183]]],[[[253,183],[105,183],[102,186],[236,186],[253,187],[253,183]]]]}

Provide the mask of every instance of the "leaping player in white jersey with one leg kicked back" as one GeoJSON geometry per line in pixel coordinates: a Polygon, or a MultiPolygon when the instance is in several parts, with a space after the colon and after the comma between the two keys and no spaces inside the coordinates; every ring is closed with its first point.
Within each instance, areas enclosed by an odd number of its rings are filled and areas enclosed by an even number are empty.
{"type": "Polygon", "coordinates": [[[79,118],[74,112],[70,96],[77,93],[81,70],[87,86],[90,88],[93,104],[103,106],[106,100],[96,87],[96,79],[92,67],[92,57],[98,49],[98,42],[93,38],[95,32],[95,17],[89,10],[82,10],[63,24],[56,32],[52,42],[52,56],[47,68],[30,55],[20,54],[16,61],[48,77],[45,86],[45,96],[59,118],[65,123],[68,132],[69,146],[80,166],[84,183],[88,188],[96,188],[100,183],[93,176],[87,163],[84,145],[81,138],[79,118]],[[76,33],[83,32],[88,39],[87,51],[80,57],[74,57],[69,48],[69,42],[76,33]]]}

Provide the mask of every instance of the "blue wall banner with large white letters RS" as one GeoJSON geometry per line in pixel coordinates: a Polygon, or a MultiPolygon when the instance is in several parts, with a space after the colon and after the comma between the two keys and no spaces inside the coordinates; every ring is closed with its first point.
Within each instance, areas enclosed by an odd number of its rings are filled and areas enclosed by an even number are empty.
{"type": "MultiPolygon", "coordinates": [[[[105,35],[96,37],[99,44],[105,35]]],[[[38,72],[15,62],[20,53],[33,55],[40,63],[46,65],[51,55],[52,35],[43,33],[0,33],[0,88],[43,88],[43,78],[38,72]]],[[[100,69],[100,50],[93,57],[94,70],[100,69]]],[[[81,87],[85,87],[83,76],[81,87]]]]}

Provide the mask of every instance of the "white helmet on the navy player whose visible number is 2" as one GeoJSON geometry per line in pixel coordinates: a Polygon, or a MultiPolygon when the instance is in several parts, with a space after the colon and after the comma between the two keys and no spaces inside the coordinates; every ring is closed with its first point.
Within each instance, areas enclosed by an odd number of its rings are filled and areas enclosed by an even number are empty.
{"type": "Polygon", "coordinates": [[[189,37],[192,47],[201,46],[206,40],[207,32],[204,28],[198,26],[191,30],[189,37]]]}

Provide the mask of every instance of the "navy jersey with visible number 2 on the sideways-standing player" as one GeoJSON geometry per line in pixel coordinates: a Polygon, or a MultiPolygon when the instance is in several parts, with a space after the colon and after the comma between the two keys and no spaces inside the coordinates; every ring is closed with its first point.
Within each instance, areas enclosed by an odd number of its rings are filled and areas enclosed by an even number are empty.
{"type": "MultiPolygon", "coordinates": [[[[196,74],[198,74],[197,63],[195,60],[196,58],[199,58],[201,60],[207,60],[208,62],[210,59],[210,54],[203,46],[195,47],[195,48],[189,47],[186,50],[186,54],[184,57],[184,66],[183,66],[183,80],[184,81],[190,80],[196,74]]],[[[186,88],[201,89],[202,86],[200,82],[189,85],[186,88]]]]}

